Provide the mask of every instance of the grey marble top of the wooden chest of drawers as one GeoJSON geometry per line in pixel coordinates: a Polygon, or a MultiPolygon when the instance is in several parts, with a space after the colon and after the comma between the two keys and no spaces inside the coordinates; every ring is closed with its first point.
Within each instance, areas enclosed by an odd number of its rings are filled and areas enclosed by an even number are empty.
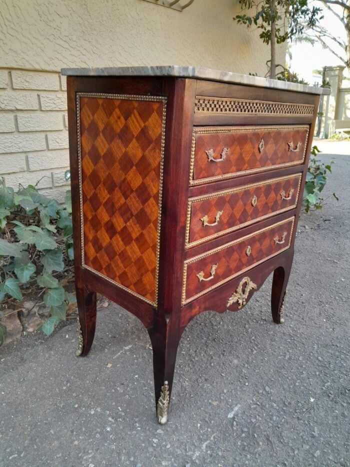
{"type": "Polygon", "coordinates": [[[259,76],[240,75],[238,73],[211,70],[210,68],[179,67],[177,65],[161,67],[62,68],[61,73],[68,76],[173,76],[257,86],[260,88],[281,89],[284,91],[297,91],[300,93],[330,93],[328,88],[270,80],[259,76]]]}

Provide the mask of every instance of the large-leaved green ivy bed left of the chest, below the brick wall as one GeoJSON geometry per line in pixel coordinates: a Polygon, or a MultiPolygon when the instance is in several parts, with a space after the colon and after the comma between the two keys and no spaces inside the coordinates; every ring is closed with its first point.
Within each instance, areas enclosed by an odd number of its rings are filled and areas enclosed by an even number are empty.
{"type": "MultiPolygon", "coordinates": [[[[32,185],[14,192],[0,181],[0,307],[37,291],[37,301],[49,309],[40,329],[51,334],[75,301],[65,289],[73,277],[72,260],[70,191],[63,206],[32,185]]],[[[2,311],[0,345],[6,334],[2,311]]]]}

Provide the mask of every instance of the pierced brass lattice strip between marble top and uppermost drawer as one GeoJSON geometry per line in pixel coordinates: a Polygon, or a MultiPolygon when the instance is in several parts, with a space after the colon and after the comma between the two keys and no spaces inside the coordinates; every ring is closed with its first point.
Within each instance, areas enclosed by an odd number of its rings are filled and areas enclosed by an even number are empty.
{"type": "Polygon", "coordinates": [[[271,116],[312,116],[314,105],[292,102],[196,96],[195,114],[240,114],[271,116]]]}

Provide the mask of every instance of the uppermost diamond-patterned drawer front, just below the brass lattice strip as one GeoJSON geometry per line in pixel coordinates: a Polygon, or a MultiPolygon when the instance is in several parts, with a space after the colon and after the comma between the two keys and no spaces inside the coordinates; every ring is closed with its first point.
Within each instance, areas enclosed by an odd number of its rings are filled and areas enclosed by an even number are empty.
{"type": "Polygon", "coordinates": [[[302,164],[308,125],[194,128],[190,185],[302,164]]]}

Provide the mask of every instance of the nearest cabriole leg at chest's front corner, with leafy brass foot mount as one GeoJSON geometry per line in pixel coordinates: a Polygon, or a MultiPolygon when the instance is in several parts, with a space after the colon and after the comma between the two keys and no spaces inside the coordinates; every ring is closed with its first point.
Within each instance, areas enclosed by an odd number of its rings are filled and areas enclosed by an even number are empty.
{"type": "Polygon", "coordinates": [[[158,422],[164,425],[168,417],[180,331],[171,325],[171,318],[169,322],[161,318],[148,329],[148,334],[153,349],[156,416],[158,422]]]}

